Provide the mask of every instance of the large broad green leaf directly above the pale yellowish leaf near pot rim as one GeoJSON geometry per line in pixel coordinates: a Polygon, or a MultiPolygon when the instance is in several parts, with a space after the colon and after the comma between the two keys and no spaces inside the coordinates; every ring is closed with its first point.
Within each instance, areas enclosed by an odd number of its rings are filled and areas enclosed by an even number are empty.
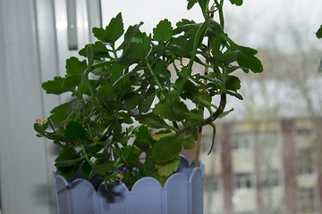
{"type": "Polygon", "coordinates": [[[165,136],[162,137],[152,149],[152,154],[157,162],[173,161],[179,157],[182,150],[182,140],[184,136],[165,136]]]}

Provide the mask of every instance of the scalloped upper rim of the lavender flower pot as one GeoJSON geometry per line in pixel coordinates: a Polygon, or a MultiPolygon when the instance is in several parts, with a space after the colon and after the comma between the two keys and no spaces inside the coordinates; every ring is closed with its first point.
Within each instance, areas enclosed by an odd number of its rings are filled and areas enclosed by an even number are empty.
{"type": "MultiPolygon", "coordinates": [[[[180,156],[180,166],[179,166],[179,169],[178,169],[178,172],[175,172],[173,175],[171,175],[170,177],[167,178],[167,180],[165,181],[165,186],[162,187],[162,185],[157,181],[156,178],[154,177],[142,177],[140,178],[137,182],[135,182],[135,184],[132,186],[132,190],[129,191],[129,189],[127,188],[126,185],[124,185],[123,183],[119,185],[119,187],[122,187],[124,189],[127,190],[128,193],[131,193],[134,189],[136,189],[137,187],[136,186],[140,186],[140,184],[143,182],[153,182],[153,183],[157,183],[160,187],[160,189],[166,189],[167,186],[169,184],[171,184],[171,180],[174,180],[174,179],[183,179],[183,182],[186,181],[188,183],[188,185],[191,185],[191,182],[192,182],[192,177],[198,173],[198,171],[201,171],[202,173],[202,177],[204,177],[204,163],[201,163],[201,168],[198,167],[198,168],[193,168],[192,167],[194,166],[194,162],[195,161],[192,161],[191,164],[189,164],[189,161],[187,160],[186,157],[184,156],[180,156]],[[182,177],[182,178],[181,178],[182,177]]],[[[58,175],[56,172],[53,173],[53,177],[54,177],[54,183],[56,183],[57,181],[56,180],[61,180],[64,185],[70,189],[72,188],[73,186],[75,185],[78,185],[80,183],[84,184],[84,185],[89,185],[94,192],[100,192],[102,186],[104,186],[104,183],[99,185],[97,190],[95,189],[94,185],[92,185],[89,180],[85,179],[85,178],[76,178],[75,180],[73,180],[71,183],[68,182],[64,177],[58,175]]]]}

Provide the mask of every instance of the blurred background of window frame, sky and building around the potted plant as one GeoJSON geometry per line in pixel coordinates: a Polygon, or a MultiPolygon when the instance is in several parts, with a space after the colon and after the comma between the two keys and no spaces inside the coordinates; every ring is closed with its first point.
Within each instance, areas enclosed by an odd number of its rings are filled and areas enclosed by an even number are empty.
{"type": "MultiPolygon", "coordinates": [[[[0,0],[0,186],[4,214],[56,213],[55,150],[32,124],[64,100],[40,84],[64,73],[64,62],[93,43],[91,28],[123,12],[124,28],[165,18],[202,21],[185,0],[0,0]]],[[[215,17],[216,19],[216,17],[215,17]]],[[[258,49],[262,74],[242,78],[243,101],[203,130],[205,214],[322,213],[322,24],[320,0],[225,0],[225,30],[258,49]]]]}

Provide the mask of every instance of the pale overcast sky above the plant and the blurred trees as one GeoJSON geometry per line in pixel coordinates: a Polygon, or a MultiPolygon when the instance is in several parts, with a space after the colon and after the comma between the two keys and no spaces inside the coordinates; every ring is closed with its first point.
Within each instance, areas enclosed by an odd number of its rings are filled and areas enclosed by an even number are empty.
{"type": "MultiPolygon", "coordinates": [[[[191,11],[186,10],[186,0],[101,1],[103,25],[108,24],[118,12],[123,13],[126,28],[143,21],[141,29],[147,32],[151,32],[157,22],[165,18],[172,21],[173,26],[182,18],[203,21],[197,4],[191,11]]],[[[241,45],[269,45],[267,42],[274,37],[278,45],[292,49],[289,34],[296,29],[307,44],[322,49],[322,43],[318,43],[315,37],[322,24],[321,0],[244,0],[242,6],[225,0],[225,14],[226,30],[241,45]]]]}

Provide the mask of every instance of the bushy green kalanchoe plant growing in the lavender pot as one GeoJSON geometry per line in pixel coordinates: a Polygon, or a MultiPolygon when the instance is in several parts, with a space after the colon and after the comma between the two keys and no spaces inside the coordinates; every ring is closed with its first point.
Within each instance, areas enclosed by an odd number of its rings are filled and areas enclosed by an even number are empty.
{"type": "Polygon", "coordinates": [[[233,73],[263,67],[256,50],[225,33],[223,0],[189,0],[188,9],[195,4],[204,22],[182,19],[174,27],[165,19],[149,35],[140,31],[142,22],[125,31],[117,14],[105,29],[93,29],[98,41],[80,50],[83,60],[68,59],[64,77],[43,83],[47,94],[71,94],[34,124],[38,136],[62,147],[55,160],[61,175],[80,170],[88,179],[100,175],[130,188],[140,177],[164,183],[178,169],[182,148],[195,148],[203,126],[212,126],[215,136],[214,121],[230,111],[226,96],[242,99],[233,73]]]}

